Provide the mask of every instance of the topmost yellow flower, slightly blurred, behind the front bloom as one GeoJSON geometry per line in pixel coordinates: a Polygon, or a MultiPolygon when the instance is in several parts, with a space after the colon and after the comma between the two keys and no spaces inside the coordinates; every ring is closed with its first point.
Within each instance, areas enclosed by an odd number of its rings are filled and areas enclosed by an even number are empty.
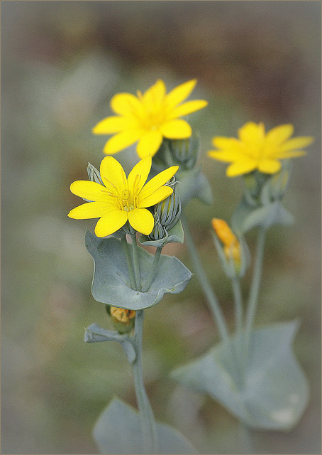
{"type": "Polygon", "coordinates": [[[114,134],[104,146],[107,155],[138,141],[140,158],[153,156],[162,139],[185,139],[191,127],[182,117],[205,107],[204,100],[183,102],[194,90],[196,79],[178,85],[168,94],[165,82],[157,80],[145,93],[117,93],[111,99],[111,109],[117,115],[106,117],[93,128],[94,134],[114,134]]]}

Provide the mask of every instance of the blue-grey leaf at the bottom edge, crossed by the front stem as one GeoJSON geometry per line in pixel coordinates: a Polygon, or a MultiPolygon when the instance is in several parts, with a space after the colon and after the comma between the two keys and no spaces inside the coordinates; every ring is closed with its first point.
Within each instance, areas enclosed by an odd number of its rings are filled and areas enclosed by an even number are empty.
{"type": "MultiPolygon", "coordinates": [[[[159,454],[196,454],[179,432],[157,423],[159,454]]],[[[140,415],[133,407],[113,398],[97,420],[94,440],[101,454],[144,454],[140,415]]]]}

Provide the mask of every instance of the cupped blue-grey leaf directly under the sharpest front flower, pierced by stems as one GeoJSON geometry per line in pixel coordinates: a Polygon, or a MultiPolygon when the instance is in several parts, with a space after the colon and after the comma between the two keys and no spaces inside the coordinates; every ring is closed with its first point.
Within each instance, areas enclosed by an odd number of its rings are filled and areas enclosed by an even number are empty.
{"type": "MultiPolygon", "coordinates": [[[[95,264],[91,293],[96,301],[103,304],[131,310],[149,308],[159,303],[164,294],[182,292],[192,276],[177,257],[161,255],[150,289],[139,292],[131,288],[121,240],[115,237],[99,238],[87,231],[85,245],[95,264]]],[[[154,256],[143,248],[138,249],[138,256],[144,281],[149,277],[154,256]]]]}

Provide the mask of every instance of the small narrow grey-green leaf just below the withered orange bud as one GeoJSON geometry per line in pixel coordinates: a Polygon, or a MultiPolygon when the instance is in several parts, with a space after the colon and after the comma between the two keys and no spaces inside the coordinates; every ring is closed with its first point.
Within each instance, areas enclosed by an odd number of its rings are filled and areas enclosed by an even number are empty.
{"type": "Polygon", "coordinates": [[[126,357],[130,363],[133,363],[136,358],[135,348],[128,335],[121,335],[116,331],[111,331],[106,328],[101,328],[97,324],[91,324],[85,329],[85,343],[97,343],[100,341],[118,341],[121,343],[126,357]]]}

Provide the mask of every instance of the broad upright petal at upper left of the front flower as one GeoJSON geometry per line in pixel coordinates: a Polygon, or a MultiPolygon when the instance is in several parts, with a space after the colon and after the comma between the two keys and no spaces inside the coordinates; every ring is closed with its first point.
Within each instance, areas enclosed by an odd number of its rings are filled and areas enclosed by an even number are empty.
{"type": "Polygon", "coordinates": [[[104,185],[111,193],[121,197],[122,192],[128,190],[126,173],[121,164],[113,156],[106,156],[101,161],[99,171],[104,185]]]}

